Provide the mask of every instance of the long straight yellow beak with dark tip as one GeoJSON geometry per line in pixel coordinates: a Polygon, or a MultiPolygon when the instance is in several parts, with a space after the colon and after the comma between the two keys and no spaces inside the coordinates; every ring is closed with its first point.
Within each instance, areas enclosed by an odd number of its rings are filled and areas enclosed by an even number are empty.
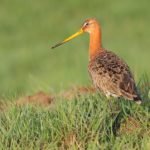
{"type": "Polygon", "coordinates": [[[54,49],[54,48],[56,48],[56,47],[58,47],[58,46],[60,46],[60,45],[62,45],[62,44],[64,44],[64,43],[66,43],[66,42],[68,42],[68,41],[74,39],[75,37],[77,37],[78,35],[82,34],[83,32],[84,32],[84,31],[83,31],[83,29],[81,28],[81,29],[80,29],[78,32],[76,32],[75,34],[69,36],[69,37],[68,37],[67,39],[65,39],[64,41],[62,41],[62,42],[60,42],[60,43],[57,43],[56,45],[52,46],[51,48],[54,49]]]}

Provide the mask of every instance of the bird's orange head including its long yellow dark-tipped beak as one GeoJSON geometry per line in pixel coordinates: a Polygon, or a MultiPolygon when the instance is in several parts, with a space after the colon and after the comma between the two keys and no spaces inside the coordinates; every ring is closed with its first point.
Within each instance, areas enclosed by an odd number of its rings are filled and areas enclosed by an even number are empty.
{"type": "Polygon", "coordinates": [[[84,21],[81,29],[76,32],[75,34],[71,35],[70,37],[66,38],[64,41],[56,44],[55,46],[52,46],[51,48],[56,48],[72,39],[74,39],[75,37],[77,37],[78,35],[83,34],[84,32],[88,32],[89,34],[91,34],[92,32],[94,32],[95,29],[99,29],[99,23],[96,19],[87,19],[84,21]]]}

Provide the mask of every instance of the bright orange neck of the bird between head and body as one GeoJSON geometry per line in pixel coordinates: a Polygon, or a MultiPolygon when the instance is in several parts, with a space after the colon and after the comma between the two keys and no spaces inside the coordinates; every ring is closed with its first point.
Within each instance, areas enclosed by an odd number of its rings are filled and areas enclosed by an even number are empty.
{"type": "Polygon", "coordinates": [[[89,59],[91,60],[100,51],[102,51],[101,30],[97,27],[90,33],[89,59]]]}

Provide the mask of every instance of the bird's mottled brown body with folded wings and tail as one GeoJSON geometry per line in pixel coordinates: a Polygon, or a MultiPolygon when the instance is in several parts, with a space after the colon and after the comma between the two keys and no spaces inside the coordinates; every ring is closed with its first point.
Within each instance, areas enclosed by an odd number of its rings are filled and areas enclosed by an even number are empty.
{"type": "Polygon", "coordinates": [[[89,62],[89,73],[96,88],[106,96],[141,102],[128,65],[113,52],[99,51],[89,62]]]}

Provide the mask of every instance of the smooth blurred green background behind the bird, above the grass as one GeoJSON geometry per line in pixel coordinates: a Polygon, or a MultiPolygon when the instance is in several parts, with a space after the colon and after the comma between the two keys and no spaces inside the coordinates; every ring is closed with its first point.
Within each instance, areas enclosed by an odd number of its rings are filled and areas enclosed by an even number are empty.
{"type": "Polygon", "coordinates": [[[136,81],[150,75],[149,0],[0,0],[0,96],[90,85],[87,34],[55,49],[86,18],[101,22],[103,46],[136,81]]]}

